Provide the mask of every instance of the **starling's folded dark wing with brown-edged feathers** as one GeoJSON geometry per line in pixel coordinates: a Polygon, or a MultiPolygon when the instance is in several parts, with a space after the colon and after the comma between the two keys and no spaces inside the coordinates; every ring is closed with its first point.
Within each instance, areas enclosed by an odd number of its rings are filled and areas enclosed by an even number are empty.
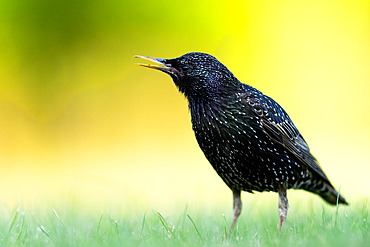
{"type": "Polygon", "coordinates": [[[326,182],[329,179],[320,168],[310,148],[285,110],[270,97],[260,93],[258,97],[250,94],[247,102],[261,119],[265,132],[277,143],[283,145],[304,164],[315,171],[326,182]],[[262,96],[262,97],[261,97],[262,96]]]}

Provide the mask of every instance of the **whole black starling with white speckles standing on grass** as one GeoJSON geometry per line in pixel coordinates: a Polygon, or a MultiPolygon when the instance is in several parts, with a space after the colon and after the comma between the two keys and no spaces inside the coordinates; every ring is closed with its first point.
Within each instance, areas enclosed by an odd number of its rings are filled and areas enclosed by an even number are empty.
{"type": "Polygon", "coordinates": [[[200,52],[174,59],[135,57],[156,63],[139,65],[169,74],[187,98],[198,144],[233,193],[231,229],[241,213],[241,191],[277,192],[280,229],[288,212],[287,189],[347,204],[285,110],[241,83],[217,58],[200,52]]]}

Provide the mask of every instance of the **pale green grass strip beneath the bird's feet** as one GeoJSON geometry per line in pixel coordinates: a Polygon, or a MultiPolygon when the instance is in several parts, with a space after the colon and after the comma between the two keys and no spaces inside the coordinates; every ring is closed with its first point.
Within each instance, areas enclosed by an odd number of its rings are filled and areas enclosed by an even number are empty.
{"type": "MultiPolygon", "coordinates": [[[[293,208],[282,232],[276,205],[244,210],[226,237],[231,212],[186,206],[177,212],[84,213],[20,207],[0,210],[0,246],[369,246],[367,201],[350,207],[293,208]]],[[[230,210],[231,211],[231,210],[230,210]]]]}

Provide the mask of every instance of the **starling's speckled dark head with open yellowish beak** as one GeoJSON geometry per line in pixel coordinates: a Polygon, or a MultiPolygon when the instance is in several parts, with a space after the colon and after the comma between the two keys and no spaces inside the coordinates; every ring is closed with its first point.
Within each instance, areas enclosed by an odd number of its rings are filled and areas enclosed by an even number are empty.
{"type": "Polygon", "coordinates": [[[173,59],[135,57],[156,63],[139,65],[169,74],[186,97],[217,97],[222,89],[238,83],[217,58],[206,53],[191,52],[173,59]]]}

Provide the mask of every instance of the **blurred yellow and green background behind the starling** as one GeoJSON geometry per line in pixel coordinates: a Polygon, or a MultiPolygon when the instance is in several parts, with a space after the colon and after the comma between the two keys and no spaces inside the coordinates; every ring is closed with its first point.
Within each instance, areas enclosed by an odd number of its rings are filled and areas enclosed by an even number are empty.
{"type": "Polygon", "coordinates": [[[368,0],[1,0],[0,203],[231,213],[185,98],[134,64],[190,51],[278,101],[348,200],[369,198],[368,0]]]}

